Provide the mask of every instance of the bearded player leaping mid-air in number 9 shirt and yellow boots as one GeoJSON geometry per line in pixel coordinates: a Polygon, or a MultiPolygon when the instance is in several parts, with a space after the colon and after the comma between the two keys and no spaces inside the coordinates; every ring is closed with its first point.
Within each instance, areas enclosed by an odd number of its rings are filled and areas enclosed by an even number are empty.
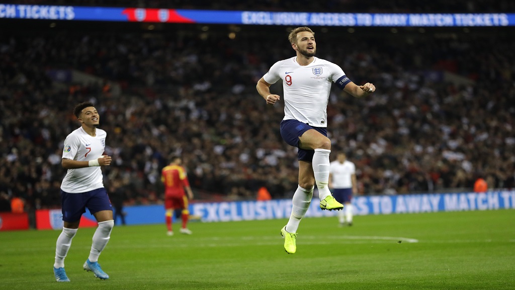
{"type": "Polygon", "coordinates": [[[281,136],[290,146],[299,148],[299,186],[293,196],[289,221],[281,229],[284,249],[293,254],[297,250],[297,229],[310,206],[315,184],[322,210],[343,208],[328,188],[331,140],[327,137],[327,105],[331,85],[335,83],[358,98],[371,94],[375,87],[370,83],[357,86],[339,66],[315,57],[315,34],[310,28],[291,30],[288,40],[297,55],[274,63],[256,89],[267,104],[273,105],[281,97],[270,93],[270,85],[282,80],[285,116],[281,136]]]}

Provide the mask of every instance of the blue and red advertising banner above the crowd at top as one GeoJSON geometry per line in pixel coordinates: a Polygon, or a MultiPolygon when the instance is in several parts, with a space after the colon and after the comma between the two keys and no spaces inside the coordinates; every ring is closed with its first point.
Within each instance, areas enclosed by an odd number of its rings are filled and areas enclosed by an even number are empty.
{"type": "Polygon", "coordinates": [[[515,26],[515,13],[318,13],[0,4],[0,19],[296,26],[515,26]]]}

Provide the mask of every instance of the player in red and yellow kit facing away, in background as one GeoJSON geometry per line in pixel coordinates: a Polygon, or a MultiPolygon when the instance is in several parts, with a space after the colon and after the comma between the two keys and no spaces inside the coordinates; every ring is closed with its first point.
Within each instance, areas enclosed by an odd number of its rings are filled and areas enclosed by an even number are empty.
{"type": "Polygon", "coordinates": [[[161,181],[164,183],[164,208],[166,227],[168,228],[168,235],[174,234],[171,227],[171,219],[174,210],[182,210],[182,228],[180,232],[182,234],[191,235],[186,225],[190,212],[188,211],[188,198],[193,199],[193,191],[188,182],[186,170],[181,166],[182,160],[179,156],[172,156],[170,158],[170,164],[163,168],[161,171],[161,181]],[[186,189],[187,197],[184,195],[184,189],[186,189]]]}

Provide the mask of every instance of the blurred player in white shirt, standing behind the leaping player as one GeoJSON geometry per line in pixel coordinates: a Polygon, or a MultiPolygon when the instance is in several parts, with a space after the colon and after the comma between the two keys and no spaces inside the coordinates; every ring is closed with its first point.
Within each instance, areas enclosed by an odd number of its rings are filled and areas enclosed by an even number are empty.
{"type": "Polygon", "coordinates": [[[337,159],[329,167],[329,188],[333,189],[334,198],[344,204],[344,210],[338,212],[340,225],[346,222],[352,225],[352,195],[357,194],[356,166],[347,160],[345,153],[338,153],[337,159]]]}

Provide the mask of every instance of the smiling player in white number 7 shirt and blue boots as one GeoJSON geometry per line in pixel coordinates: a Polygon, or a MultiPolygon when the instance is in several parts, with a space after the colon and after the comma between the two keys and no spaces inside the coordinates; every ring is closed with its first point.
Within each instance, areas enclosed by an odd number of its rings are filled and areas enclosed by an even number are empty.
{"type": "Polygon", "coordinates": [[[109,279],[98,257],[107,245],[113,229],[113,210],[104,187],[100,166],[111,164],[111,157],[102,155],[106,148],[107,133],[98,129],[98,112],[90,102],[78,104],[74,114],[82,124],[64,140],[61,159],[67,173],[61,183],[61,202],[64,226],[57,238],[54,275],[58,282],[70,282],[64,271],[64,258],[72,245],[79,228],[80,217],[88,208],[98,222],[93,234],[88,260],[83,268],[92,271],[95,277],[109,279]]]}

